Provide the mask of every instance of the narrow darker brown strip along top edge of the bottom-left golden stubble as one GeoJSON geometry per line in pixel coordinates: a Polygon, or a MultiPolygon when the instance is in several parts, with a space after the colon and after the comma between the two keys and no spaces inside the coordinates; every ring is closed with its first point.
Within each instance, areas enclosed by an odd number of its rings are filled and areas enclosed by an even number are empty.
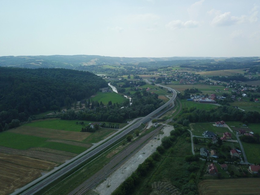
{"type": "Polygon", "coordinates": [[[0,160],[5,161],[6,163],[17,164],[28,168],[35,168],[41,170],[51,170],[55,166],[56,163],[43,161],[31,157],[14,155],[14,154],[5,154],[0,153],[0,160]]]}

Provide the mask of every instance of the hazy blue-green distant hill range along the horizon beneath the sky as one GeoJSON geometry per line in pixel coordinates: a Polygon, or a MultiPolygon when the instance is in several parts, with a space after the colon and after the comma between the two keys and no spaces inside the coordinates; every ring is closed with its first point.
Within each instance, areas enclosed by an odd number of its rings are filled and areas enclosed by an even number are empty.
{"type": "Polygon", "coordinates": [[[129,58],[109,56],[2,56],[0,66],[23,67],[23,68],[67,68],[77,69],[80,66],[103,65],[103,64],[127,64],[169,60],[204,60],[211,58],[203,57],[168,57],[168,58],[129,58]]]}

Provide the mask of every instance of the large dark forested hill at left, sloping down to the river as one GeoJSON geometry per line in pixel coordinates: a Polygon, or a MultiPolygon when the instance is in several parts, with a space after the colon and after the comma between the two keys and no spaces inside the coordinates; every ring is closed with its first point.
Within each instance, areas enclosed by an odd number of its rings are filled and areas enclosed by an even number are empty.
{"type": "Polygon", "coordinates": [[[86,71],[0,67],[0,121],[25,121],[31,114],[69,107],[102,87],[107,82],[86,71]]]}

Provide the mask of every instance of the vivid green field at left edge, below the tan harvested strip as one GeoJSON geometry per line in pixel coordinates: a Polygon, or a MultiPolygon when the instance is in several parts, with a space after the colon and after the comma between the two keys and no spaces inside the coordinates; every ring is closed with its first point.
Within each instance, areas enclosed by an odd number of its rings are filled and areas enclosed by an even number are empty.
{"type": "Polygon", "coordinates": [[[72,146],[64,143],[47,142],[46,140],[47,138],[16,134],[6,131],[1,133],[0,146],[19,150],[27,150],[31,147],[44,147],[72,153],[82,153],[86,150],[84,147],[72,146]]]}

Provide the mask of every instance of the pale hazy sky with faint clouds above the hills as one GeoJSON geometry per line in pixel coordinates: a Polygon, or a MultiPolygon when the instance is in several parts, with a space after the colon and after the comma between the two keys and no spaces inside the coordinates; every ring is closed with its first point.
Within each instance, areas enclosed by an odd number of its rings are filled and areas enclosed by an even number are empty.
{"type": "Polygon", "coordinates": [[[260,56],[259,0],[0,0],[0,56],[260,56]]]}

